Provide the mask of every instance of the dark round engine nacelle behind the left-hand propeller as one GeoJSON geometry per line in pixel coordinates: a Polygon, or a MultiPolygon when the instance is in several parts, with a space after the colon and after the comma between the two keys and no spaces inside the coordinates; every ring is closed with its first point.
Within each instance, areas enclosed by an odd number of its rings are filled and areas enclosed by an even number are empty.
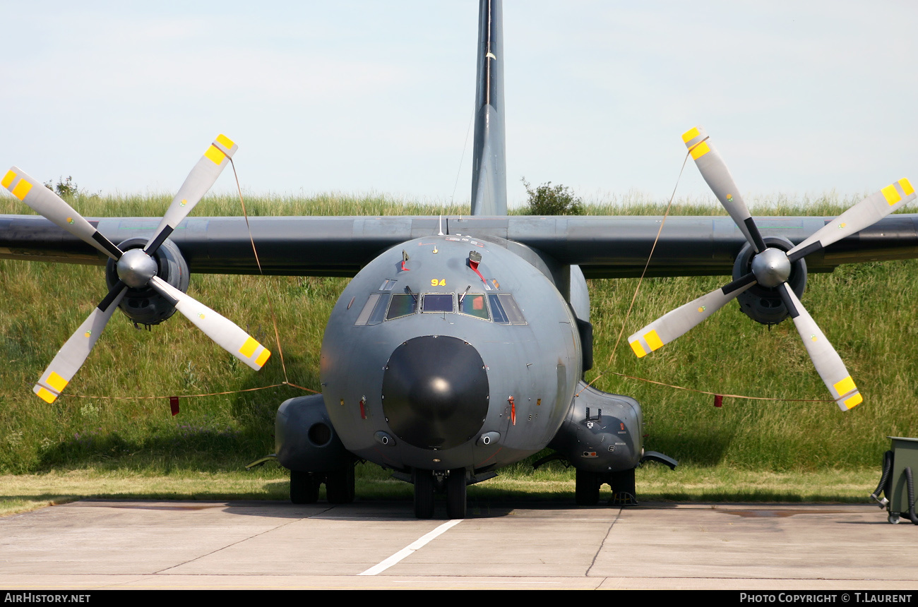
{"type": "MultiPolygon", "coordinates": [[[[128,251],[131,248],[144,248],[146,245],[147,238],[134,237],[122,242],[118,248],[128,251]]],[[[181,292],[188,291],[188,263],[172,240],[166,238],[152,257],[156,261],[157,276],[181,292]]],[[[108,289],[111,290],[116,282],[118,282],[116,262],[109,259],[106,264],[108,289]]],[[[118,307],[135,325],[159,325],[175,313],[173,303],[166,301],[150,286],[129,289],[118,307]]]]}

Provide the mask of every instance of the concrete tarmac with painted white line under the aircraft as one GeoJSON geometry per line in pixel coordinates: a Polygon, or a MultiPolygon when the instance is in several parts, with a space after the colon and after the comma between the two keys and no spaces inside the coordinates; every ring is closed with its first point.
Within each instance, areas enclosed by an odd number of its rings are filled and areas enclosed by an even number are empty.
{"type": "Polygon", "coordinates": [[[447,523],[410,502],[73,502],[0,519],[0,587],[918,588],[918,526],[869,505],[502,502],[447,523]]]}

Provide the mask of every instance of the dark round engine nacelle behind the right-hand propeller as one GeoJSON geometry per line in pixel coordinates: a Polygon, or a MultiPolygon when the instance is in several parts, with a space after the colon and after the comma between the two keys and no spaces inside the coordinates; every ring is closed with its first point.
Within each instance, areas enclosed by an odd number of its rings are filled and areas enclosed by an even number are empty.
{"type": "MultiPolygon", "coordinates": [[[[794,247],[793,243],[787,238],[782,237],[764,237],[765,244],[768,248],[779,248],[785,252],[794,247]]],[[[752,260],[756,257],[756,251],[746,243],[740,250],[733,262],[733,280],[740,278],[752,271],[752,260]]],[[[800,258],[790,264],[790,277],[788,284],[797,298],[803,296],[806,288],[806,260],[800,258]]],[[[736,297],[740,303],[740,310],[744,315],[749,316],[757,323],[763,325],[777,325],[779,322],[789,317],[788,309],[781,301],[781,296],[777,288],[763,287],[761,284],[754,284],[747,291],[740,293],[736,297]]]]}

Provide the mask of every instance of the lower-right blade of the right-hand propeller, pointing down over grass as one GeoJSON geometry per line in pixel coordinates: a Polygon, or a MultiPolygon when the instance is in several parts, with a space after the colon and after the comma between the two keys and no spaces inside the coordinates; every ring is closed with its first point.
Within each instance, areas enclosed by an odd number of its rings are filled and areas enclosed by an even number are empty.
{"type": "Polygon", "coordinates": [[[787,282],[778,286],[778,292],[781,293],[781,299],[788,307],[790,317],[794,319],[794,325],[797,326],[800,338],[803,339],[803,346],[810,353],[816,372],[823,378],[825,387],[832,392],[835,403],[838,403],[842,411],[847,411],[860,404],[864,399],[857,391],[851,374],[845,369],[845,363],[842,362],[838,352],[800,303],[800,299],[787,282]]]}

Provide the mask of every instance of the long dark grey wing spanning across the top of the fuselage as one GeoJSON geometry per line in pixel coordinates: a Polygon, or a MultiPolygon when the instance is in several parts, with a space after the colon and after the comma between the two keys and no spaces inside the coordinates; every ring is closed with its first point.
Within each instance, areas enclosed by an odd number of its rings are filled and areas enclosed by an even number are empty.
{"type": "MultiPolygon", "coordinates": [[[[798,245],[834,217],[760,217],[763,237],[798,245]]],[[[640,276],[662,217],[444,217],[446,234],[500,237],[579,265],[587,278],[640,276]]],[[[353,276],[386,248],[435,235],[439,217],[250,217],[265,274],[353,276]]],[[[151,237],[154,217],[89,218],[114,243],[151,237]]],[[[189,217],[171,235],[192,272],[257,274],[242,217],[189,217]]],[[[670,216],[660,232],[648,276],[729,275],[746,238],[728,216],[670,216]]],[[[806,259],[809,271],[843,263],[918,258],[918,215],[890,215],[806,259]]],[[[0,259],[39,259],[102,265],[106,256],[50,221],[0,215],[0,259]]]]}

